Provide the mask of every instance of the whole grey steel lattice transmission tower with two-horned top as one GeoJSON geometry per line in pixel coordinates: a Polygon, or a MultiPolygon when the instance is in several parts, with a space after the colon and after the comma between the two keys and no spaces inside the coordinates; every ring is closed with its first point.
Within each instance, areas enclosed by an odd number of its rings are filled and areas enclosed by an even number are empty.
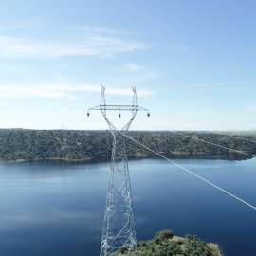
{"type": "Polygon", "coordinates": [[[101,104],[90,108],[87,112],[87,116],[90,116],[90,110],[100,110],[114,137],[101,238],[101,256],[116,255],[119,248],[123,248],[123,255],[138,256],[135,217],[124,135],[128,132],[137,115],[137,111],[147,111],[148,117],[150,114],[148,109],[137,105],[136,88],[133,88],[132,105],[106,105],[104,91],[105,88],[102,87],[101,104]],[[121,130],[118,130],[107,119],[106,112],[110,110],[119,111],[119,118],[121,111],[131,111],[132,118],[121,130]]]}

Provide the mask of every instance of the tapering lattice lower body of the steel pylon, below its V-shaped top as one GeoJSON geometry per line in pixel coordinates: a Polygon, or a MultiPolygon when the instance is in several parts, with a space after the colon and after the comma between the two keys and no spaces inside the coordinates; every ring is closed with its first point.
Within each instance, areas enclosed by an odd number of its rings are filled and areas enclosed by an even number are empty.
{"type": "MultiPolygon", "coordinates": [[[[124,133],[126,131],[122,131],[124,133]]],[[[125,137],[112,131],[114,141],[108,181],[106,208],[101,240],[101,256],[138,255],[133,200],[126,155],[125,137]]]]}

